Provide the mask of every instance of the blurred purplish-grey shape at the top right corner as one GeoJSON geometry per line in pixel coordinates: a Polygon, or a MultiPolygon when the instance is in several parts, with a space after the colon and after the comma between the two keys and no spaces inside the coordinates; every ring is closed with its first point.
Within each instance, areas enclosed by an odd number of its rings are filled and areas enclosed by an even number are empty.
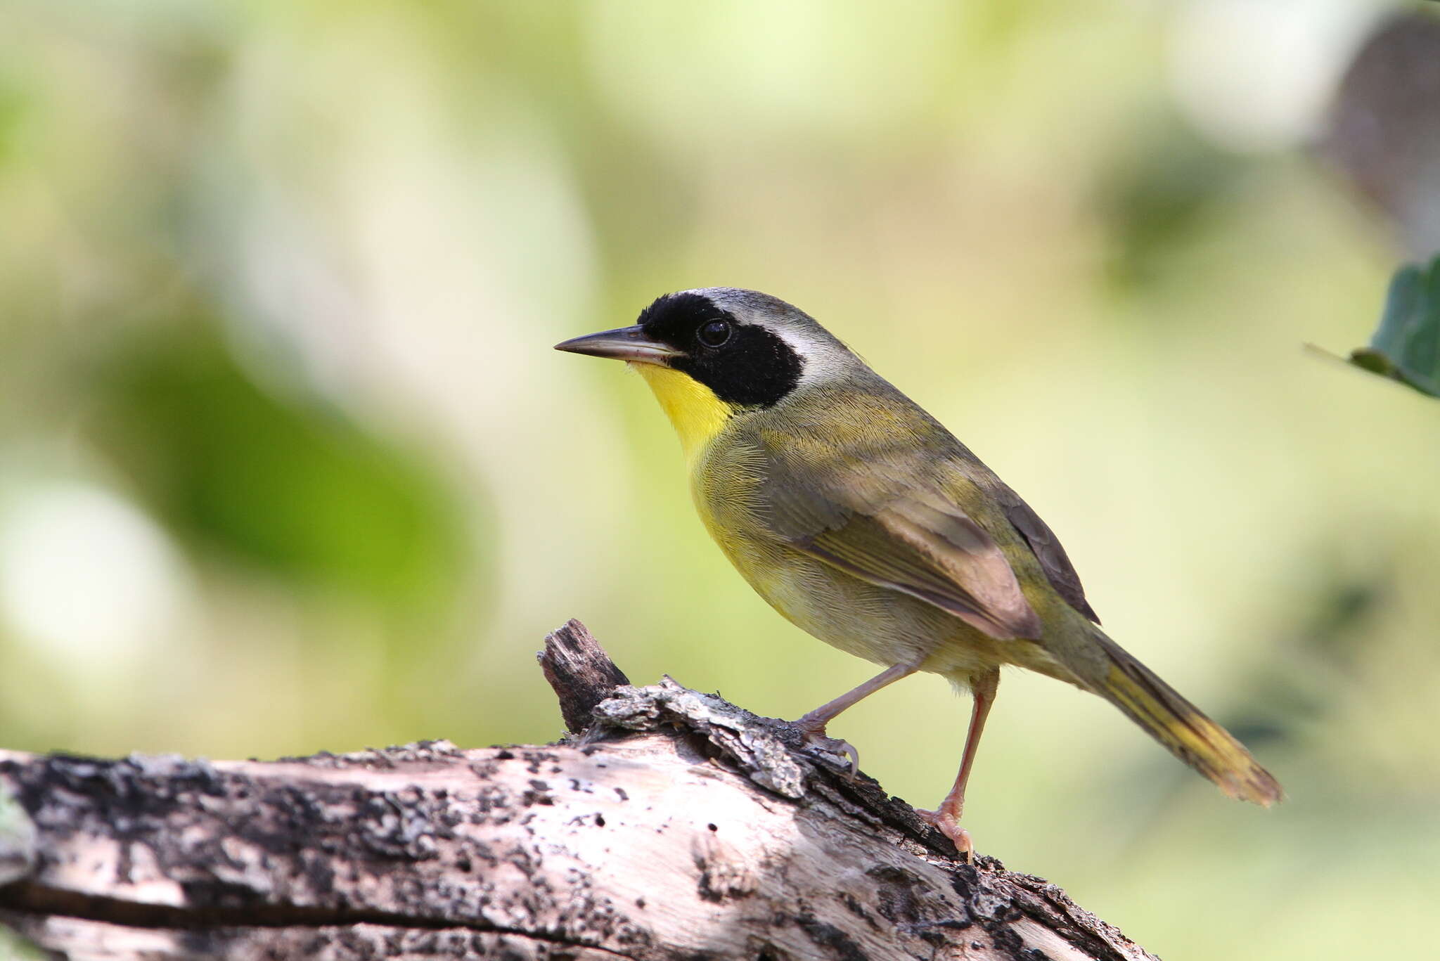
{"type": "Polygon", "coordinates": [[[1440,19],[1400,14],[1355,56],[1320,143],[1417,259],[1440,251],[1440,19]]]}

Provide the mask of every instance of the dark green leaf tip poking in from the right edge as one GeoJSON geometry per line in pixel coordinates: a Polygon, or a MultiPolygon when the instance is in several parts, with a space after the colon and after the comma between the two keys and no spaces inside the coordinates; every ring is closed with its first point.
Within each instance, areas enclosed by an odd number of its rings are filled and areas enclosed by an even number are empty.
{"type": "Polygon", "coordinates": [[[1440,396],[1440,256],[1428,267],[1407,265],[1390,281],[1385,314],[1369,347],[1351,363],[1440,396]]]}

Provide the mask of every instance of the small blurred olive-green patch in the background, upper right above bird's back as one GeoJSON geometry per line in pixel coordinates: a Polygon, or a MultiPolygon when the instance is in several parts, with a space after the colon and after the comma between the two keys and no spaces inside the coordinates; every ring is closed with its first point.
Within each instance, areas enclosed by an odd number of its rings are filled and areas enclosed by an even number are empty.
{"type": "Polygon", "coordinates": [[[1110,238],[1109,280],[1128,290],[1164,280],[1166,258],[1247,170],[1243,158],[1211,147],[1175,117],[1146,130],[1129,157],[1112,164],[1099,196],[1110,238]]]}

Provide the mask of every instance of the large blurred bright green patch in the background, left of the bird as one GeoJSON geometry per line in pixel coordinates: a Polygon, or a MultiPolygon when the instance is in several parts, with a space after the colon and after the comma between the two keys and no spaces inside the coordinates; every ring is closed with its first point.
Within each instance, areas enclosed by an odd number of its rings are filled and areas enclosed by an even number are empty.
{"type": "Polygon", "coordinates": [[[95,435],[192,547],[297,586],[433,608],[465,563],[456,499],[413,452],[236,365],[203,311],[157,326],[96,380],[95,435]]]}

